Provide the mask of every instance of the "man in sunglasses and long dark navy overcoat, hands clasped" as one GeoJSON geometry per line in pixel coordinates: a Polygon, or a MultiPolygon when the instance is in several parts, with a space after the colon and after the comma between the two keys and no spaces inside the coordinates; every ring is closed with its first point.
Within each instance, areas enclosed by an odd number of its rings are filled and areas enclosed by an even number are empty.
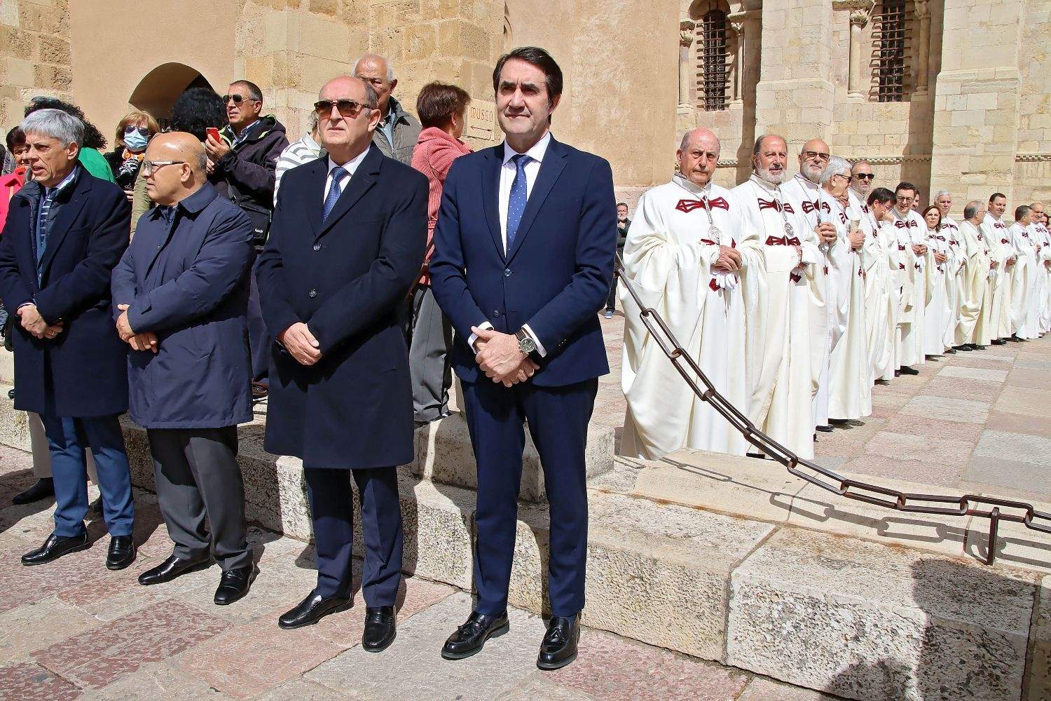
{"type": "Polygon", "coordinates": [[[342,76],[314,103],[328,157],[285,173],[256,275],[276,338],[266,449],[303,458],[317,585],[279,625],[350,605],[353,496],[365,540],[362,646],[394,640],[401,581],[395,466],[413,458],[409,351],[398,310],[427,247],[427,179],[370,146],[375,90],[342,76]]]}

